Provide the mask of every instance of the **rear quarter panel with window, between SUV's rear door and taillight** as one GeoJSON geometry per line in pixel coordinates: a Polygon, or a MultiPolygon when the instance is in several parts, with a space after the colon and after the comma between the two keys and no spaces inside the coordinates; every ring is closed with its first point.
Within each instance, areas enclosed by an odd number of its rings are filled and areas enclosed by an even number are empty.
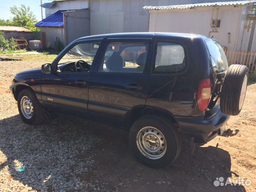
{"type": "Polygon", "coordinates": [[[154,47],[146,106],[162,108],[176,116],[201,115],[196,109],[193,81],[198,74],[193,70],[195,66],[189,65],[184,39],[156,34],[154,47]]]}

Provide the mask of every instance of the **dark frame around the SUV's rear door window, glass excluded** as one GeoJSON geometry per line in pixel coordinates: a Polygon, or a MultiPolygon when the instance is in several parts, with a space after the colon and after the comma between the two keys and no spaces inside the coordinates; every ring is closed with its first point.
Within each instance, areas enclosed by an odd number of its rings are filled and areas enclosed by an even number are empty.
{"type": "MultiPolygon", "coordinates": [[[[106,54],[106,50],[108,48],[108,45],[112,42],[130,42],[130,43],[134,43],[134,42],[144,42],[144,43],[148,43],[148,52],[150,50],[150,43],[152,43],[152,38],[108,38],[105,42],[104,42],[104,47],[102,48],[102,52],[100,53],[100,60],[98,60],[97,62],[97,67],[95,68],[95,73],[96,74],[146,74],[146,66],[147,66],[147,61],[149,60],[149,55],[147,53],[147,58],[146,58],[146,64],[145,67],[143,69],[142,72],[140,73],[134,73],[134,72],[100,72],[100,64],[104,58],[104,55],[106,54]]],[[[151,64],[151,63],[150,63],[151,64]]]]}

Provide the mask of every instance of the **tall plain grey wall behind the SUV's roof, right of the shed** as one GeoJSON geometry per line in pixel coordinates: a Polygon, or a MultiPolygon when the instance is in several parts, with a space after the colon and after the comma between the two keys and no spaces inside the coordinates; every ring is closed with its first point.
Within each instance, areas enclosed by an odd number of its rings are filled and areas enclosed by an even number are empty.
{"type": "Polygon", "coordinates": [[[143,6],[216,2],[216,0],[93,0],[90,34],[148,32],[149,14],[143,6]]]}

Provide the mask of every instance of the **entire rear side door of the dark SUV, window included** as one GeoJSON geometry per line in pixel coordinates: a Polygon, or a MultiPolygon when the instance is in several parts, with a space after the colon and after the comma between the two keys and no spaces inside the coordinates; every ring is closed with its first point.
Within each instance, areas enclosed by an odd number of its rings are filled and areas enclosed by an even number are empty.
{"type": "Polygon", "coordinates": [[[152,39],[109,38],[102,49],[90,80],[88,109],[94,120],[124,126],[125,114],[146,102],[152,39]]]}

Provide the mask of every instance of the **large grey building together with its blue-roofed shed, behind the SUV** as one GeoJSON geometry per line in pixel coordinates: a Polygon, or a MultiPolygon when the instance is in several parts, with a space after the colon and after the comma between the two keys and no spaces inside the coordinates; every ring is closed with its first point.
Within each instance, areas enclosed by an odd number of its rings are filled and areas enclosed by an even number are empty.
{"type": "Polygon", "coordinates": [[[42,44],[54,47],[56,39],[67,45],[76,38],[88,35],[148,32],[149,12],[143,9],[144,6],[213,1],[215,0],[54,0],[42,5],[46,19],[36,26],[41,28],[42,44]],[[61,12],[56,14],[58,11],[61,12]],[[49,18],[53,14],[56,15],[49,18]]]}

